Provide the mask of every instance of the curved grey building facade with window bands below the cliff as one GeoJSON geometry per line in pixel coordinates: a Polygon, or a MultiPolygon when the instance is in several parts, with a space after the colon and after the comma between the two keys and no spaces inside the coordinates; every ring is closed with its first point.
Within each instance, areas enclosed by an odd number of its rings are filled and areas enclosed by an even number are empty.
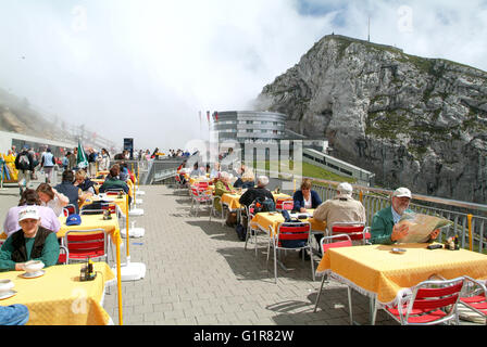
{"type": "Polygon", "coordinates": [[[226,111],[213,115],[212,130],[217,142],[276,142],[286,138],[287,116],[276,112],[226,111]]]}

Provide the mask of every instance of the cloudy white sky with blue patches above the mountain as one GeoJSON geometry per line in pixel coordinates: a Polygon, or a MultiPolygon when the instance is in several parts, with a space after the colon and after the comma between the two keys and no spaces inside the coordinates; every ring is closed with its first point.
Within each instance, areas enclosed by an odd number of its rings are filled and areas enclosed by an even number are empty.
{"type": "Polygon", "coordinates": [[[373,42],[487,70],[480,0],[0,0],[0,88],[120,146],[184,147],[369,17],[373,42]]]}

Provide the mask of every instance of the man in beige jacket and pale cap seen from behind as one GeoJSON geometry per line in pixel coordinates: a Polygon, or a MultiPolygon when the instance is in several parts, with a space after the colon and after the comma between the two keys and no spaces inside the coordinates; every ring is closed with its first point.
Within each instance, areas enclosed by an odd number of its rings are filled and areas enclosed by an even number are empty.
{"type": "MultiPolygon", "coordinates": [[[[313,213],[313,218],[325,221],[330,227],[335,222],[358,221],[365,222],[365,207],[352,197],[353,188],[350,183],[342,182],[337,187],[337,195],[321,204],[313,213]]],[[[322,234],[314,235],[320,244],[322,234]]],[[[321,252],[321,249],[320,249],[321,252]]]]}

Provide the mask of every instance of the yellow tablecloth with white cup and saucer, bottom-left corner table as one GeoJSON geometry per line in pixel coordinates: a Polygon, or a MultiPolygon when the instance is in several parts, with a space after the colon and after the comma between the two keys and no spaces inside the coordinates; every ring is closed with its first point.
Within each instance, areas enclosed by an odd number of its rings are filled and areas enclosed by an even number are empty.
{"type": "Polygon", "coordinates": [[[20,277],[22,271],[0,272],[17,293],[0,305],[23,304],[29,310],[27,325],[107,325],[110,316],[100,305],[104,285],[115,275],[105,262],[95,262],[97,278],[80,282],[82,264],[54,266],[36,279],[20,277]]]}

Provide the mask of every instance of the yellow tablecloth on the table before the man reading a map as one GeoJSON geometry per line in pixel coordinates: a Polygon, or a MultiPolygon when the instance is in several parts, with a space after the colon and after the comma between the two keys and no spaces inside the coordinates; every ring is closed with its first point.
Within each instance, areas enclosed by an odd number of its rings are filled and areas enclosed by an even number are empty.
{"type": "Polygon", "coordinates": [[[358,290],[376,294],[380,303],[390,303],[401,288],[426,281],[432,274],[446,279],[470,275],[487,279],[487,255],[460,249],[427,249],[427,244],[404,244],[403,254],[394,254],[392,245],[330,248],[316,273],[332,271],[358,290]]]}

